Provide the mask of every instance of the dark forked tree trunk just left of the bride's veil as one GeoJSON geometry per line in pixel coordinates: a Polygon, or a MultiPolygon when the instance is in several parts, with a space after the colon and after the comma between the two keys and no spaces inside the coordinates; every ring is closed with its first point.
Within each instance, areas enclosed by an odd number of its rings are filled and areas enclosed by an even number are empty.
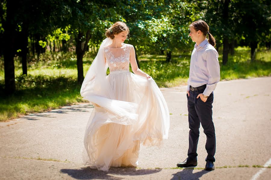
{"type": "Polygon", "coordinates": [[[77,55],[77,81],[81,85],[84,80],[84,74],[83,74],[83,56],[87,50],[88,42],[90,39],[90,31],[86,32],[86,40],[83,45],[83,35],[84,33],[79,31],[78,36],[76,38],[76,55],[77,55]]]}

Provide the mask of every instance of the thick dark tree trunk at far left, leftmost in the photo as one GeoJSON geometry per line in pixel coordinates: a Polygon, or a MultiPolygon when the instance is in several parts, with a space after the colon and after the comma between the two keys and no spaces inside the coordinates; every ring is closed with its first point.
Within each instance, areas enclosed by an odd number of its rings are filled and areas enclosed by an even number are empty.
{"type": "Polygon", "coordinates": [[[11,1],[6,1],[7,15],[6,21],[3,23],[4,31],[4,66],[5,66],[5,91],[7,95],[15,92],[15,72],[14,72],[14,55],[15,55],[15,39],[16,39],[16,23],[14,15],[16,6],[11,1]]]}

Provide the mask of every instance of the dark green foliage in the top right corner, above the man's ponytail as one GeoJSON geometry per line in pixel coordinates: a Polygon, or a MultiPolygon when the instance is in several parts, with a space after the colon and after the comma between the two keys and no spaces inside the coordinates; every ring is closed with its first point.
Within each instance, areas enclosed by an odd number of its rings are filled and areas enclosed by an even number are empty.
{"type": "Polygon", "coordinates": [[[210,32],[217,40],[223,35],[238,42],[270,41],[266,39],[271,30],[271,3],[266,0],[234,0],[229,2],[229,18],[223,21],[223,0],[197,1],[204,12],[203,20],[210,26],[210,32]],[[264,28],[263,28],[264,27],[264,28]]]}

